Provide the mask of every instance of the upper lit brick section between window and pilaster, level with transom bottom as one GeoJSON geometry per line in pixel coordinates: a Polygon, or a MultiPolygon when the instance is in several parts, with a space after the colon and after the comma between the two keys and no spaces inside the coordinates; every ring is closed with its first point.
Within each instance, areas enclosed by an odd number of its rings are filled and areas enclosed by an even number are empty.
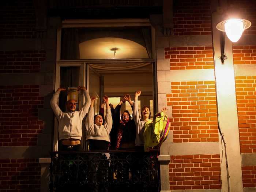
{"type": "Polygon", "coordinates": [[[211,46],[168,47],[165,59],[170,59],[170,70],[214,68],[211,46]]]}

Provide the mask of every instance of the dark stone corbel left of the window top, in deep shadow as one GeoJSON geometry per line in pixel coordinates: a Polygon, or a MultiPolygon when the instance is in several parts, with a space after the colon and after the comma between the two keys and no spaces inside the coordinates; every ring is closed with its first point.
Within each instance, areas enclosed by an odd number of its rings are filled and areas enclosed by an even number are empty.
{"type": "Polygon", "coordinates": [[[44,38],[47,30],[47,0],[33,0],[36,16],[37,38],[44,38]]]}

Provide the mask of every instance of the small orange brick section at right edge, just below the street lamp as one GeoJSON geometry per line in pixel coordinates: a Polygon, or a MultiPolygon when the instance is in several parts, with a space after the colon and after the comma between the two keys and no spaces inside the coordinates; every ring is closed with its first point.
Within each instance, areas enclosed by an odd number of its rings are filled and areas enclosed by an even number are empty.
{"type": "Polygon", "coordinates": [[[256,64],[256,45],[233,46],[234,64],[256,64]]]}

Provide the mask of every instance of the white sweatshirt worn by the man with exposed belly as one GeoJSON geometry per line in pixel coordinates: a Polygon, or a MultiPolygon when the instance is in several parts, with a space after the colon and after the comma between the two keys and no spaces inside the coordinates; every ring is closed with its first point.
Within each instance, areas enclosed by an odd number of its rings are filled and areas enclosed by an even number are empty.
{"type": "Polygon", "coordinates": [[[50,106],[59,121],[59,140],[82,138],[82,121],[91,105],[88,91],[84,91],[85,103],[82,109],[75,112],[62,112],[58,106],[60,91],[56,91],[50,101],[50,106]]]}

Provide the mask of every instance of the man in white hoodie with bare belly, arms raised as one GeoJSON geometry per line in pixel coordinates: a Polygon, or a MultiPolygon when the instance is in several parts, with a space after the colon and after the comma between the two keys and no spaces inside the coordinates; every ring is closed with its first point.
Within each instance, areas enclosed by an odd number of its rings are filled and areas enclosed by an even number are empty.
{"type": "Polygon", "coordinates": [[[59,95],[64,88],[58,88],[54,93],[50,106],[59,121],[59,151],[81,151],[82,121],[88,113],[91,98],[85,87],[78,86],[77,90],[83,91],[85,103],[79,111],[76,111],[76,100],[67,101],[67,112],[62,112],[58,106],[59,95]]]}

